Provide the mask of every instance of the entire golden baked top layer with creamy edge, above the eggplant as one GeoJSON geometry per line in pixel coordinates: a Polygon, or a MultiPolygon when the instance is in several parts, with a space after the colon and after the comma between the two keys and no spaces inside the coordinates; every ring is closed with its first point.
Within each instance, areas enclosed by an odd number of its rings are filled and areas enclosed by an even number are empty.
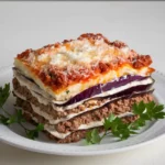
{"type": "Polygon", "coordinates": [[[77,40],[26,50],[16,56],[14,65],[55,99],[67,100],[124,75],[148,76],[154,72],[151,63],[150,55],[139,55],[123,42],[87,33],[77,40]]]}

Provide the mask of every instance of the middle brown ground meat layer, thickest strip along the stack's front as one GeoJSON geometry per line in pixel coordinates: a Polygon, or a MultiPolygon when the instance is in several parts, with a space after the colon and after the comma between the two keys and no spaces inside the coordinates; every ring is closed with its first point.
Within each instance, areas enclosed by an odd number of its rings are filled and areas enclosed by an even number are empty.
{"type": "MultiPolygon", "coordinates": [[[[141,96],[129,98],[129,99],[120,99],[102,108],[99,108],[89,112],[85,112],[70,120],[59,122],[52,127],[54,127],[54,129],[61,133],[76,131],[80,127],[80,124],[88,124],[94,121],[101,121],[103,118],[109,117],[110,113],[121,114],[124,112],[130,112],[132,110],[133,103],[135,102],[138,103],[142,100],[144,102],[148,102],[153,100],[153,97],[151,94],[144,94],[141,96]]],[[[22,107],[23,110],[34,113],[35,118],[41,123],[47,123],[47,124],[50,123],[46,119],[33,112],[33,109],[28,101],[24,101],[18,98],[16,105],[19,107],[22,107]]]]}

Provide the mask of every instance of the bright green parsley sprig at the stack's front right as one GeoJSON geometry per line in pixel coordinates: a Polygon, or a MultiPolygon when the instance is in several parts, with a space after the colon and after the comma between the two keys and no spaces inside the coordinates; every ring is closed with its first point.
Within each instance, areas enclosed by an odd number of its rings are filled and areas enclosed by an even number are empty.
{"type": "Polygon", "coordinates": [[[139,119],[133,123],[124,123],[121,118],[110,114],[109,118],[105,119],[103,129],[105,133],[99,134],[98,129],[94,129],[86,133],[87,144],[99,144],[101,140],[111,131],[112,135],[119,138],[120,140],[127,140],[131,134],[136,134],[135,130],[145,125],[147,120],[164,119],[165,112],[163,111],[163,105],[156,105],[154,101],[144,103],[133,105],[133,113],[139,116],[139,119]]]}

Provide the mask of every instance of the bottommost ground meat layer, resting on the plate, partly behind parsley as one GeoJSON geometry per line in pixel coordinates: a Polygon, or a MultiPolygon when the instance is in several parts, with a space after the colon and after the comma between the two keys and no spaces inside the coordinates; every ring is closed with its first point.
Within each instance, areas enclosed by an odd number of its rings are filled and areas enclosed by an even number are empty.
{"type": "MultiPolygon", "coordinates": [[[[23,116],[28,121],[35,124],[35,122],[32,120],[32,117],[30,116],[30,113],[24,112],[23,116]]],[[[138,117],[135,117],[135,116],[130,116],[130,117],[122,118],[122,120],[125,123],[131,123],[131,122],[135,121],[136,119],[138,119],[138,117]]],[[[44,131],[44,132],[47,134],[47,136],[51,140],[54,140],[57,143],[73,143],[73,142],[78,142],[81,139],[84,139],[86,136],[87,131],[89,131],[89,130],[91,130],[91,129],[74,131],[74,132],[72,132],[72,134],[67,135],[65,139],[57,139],[54,135],[52,135],[50,132],[46,132],[46,131],[44,131]]],[[[99,130],[99,132],[103,132],[102,127],[99,127],[98,130],[99,130]]]]}

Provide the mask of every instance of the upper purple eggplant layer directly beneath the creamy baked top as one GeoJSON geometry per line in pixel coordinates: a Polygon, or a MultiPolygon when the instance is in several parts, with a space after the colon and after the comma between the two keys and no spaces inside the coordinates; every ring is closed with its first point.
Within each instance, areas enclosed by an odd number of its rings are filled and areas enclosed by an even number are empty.
{"type": "MultiPolygon", "coordinates": [[[[37,95],[42,95],[43,97],[47,96],[47,94],[45,94],[45,91],[40,89],[40,87],[32,79],[22,75],[16,68],[13,68],[13,72],[14,72],[14,75],[21,76],[21,78],[23,78],[25,81],[30,82],[31,86],[35,86],[35,88],[37,88],[37,91],[35,91],[35,92],[38,92],[38,90],[42,91],[41,94],[37,94],[37,95]]],[[[106,97],[106,96],[109,96],[108,91],[110,91],[110,90],[118,89],[119,87],[123,87],[130,82],[139,82],[139,81],[142,81],[145,79],[150,79],[148,84],[154,82],[154,80],[151,77],[143,77],[143,76],[139,76],[139,75],[127,75],[127,76],[120,77],[117,80],[109,81],[107,84],[99,84],[97,86],[90,87],[63,103],[59,103],[59,102],[57,103],[55,101],[55,105],[66,107],[66,106],[70,106],[70,105],[78,103],[78,102],[81,103],[91,98],[106,97]]],[[[66,91],[66,92],[69,92],[69,91],[66,91]]],[[[48,97],[51,97],[51,96],[48,96],[48,97]]],[[[52,100],[53,100],[53,98],[52,98],[52,100]]]]}

